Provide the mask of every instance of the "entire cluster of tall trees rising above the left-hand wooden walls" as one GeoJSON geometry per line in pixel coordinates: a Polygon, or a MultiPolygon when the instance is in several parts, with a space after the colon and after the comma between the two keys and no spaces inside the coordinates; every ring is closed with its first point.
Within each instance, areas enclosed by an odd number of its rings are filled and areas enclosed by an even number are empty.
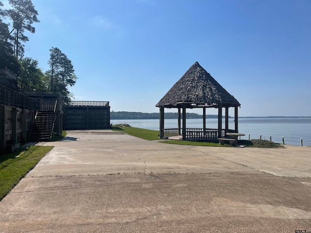
{"type": "Polygon", "coordinates": [[[50,69],[44,72],[37,60],[24,57],[24,44],[29,41],[24,33],[35,33],[33,24],[40,22],[38,12],[31,0],[8,0],[8,3],[10,8],[3,9],[0,0],[0,68],[17,75],[19,90],[58,91],[65,101],[71,100],[73,95],[68,87],[78,79],[71,61],[60,49],[52,47],[50,69]]]}

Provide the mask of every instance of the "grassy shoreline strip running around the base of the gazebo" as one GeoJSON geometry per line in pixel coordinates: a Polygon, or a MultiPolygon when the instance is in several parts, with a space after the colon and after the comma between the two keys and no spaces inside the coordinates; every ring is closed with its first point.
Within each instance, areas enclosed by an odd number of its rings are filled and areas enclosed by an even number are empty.
{"type": "MultiPolygon", "coordinates": [[[[113,125],[111,127],[113,131],[119,131],[128,133],[130,135],[146,139],[146,140],[160,140],[158,137],[159,132],[157,130],[146,130],[130,126],[121,127],[120,125],[113,125]]],[[[182,141],[182,140],[161,140],[162,143],[177,144],[177,145],[190,145],[190,146],[203,146],[203,147],[233,147],[229,144],[220,145],[218,141],[213,142],[193,142],[193,141],[182,141]]],[[[240,140],[239,144],[245,145],[246,147],[257,147],[257,148],[284,148],[282,145],[268,140],[252,139],[240,140]]]]}

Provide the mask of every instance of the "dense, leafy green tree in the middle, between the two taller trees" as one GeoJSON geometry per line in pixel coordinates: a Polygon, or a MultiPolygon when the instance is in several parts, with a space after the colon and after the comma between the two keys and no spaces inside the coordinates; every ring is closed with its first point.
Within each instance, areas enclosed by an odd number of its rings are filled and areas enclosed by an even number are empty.
{"type": "Polygon", "coordinates": [[[17,84],[20,90],[46,90],[44,73],[38,67],[38,61],[30,57],[21,59],[21,71],[17,84]]]}

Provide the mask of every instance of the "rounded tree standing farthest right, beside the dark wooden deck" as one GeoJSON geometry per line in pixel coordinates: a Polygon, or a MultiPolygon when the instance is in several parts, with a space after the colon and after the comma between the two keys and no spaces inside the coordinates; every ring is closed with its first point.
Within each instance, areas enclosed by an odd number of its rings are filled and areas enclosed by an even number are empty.
{"type": "Polygon", "coordinates": [[[50,52],[50,60],[48,61],[50,69],[46,72],[46,76],[50,80],[49,89],[60,91],[64,100],[69,101],[72,94],[68,91],[68,87],[73,86],[78,78],[74,73],[71,61],[61,50],[52,47],[50,52]]]}

